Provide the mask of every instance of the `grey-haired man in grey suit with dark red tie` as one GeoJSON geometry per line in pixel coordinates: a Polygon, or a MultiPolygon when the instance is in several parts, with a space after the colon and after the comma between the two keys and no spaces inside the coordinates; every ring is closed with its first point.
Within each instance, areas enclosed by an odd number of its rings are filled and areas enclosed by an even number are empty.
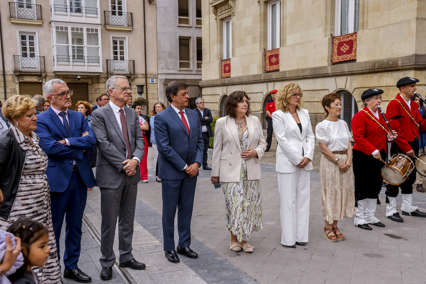
{"type": "Polygon", "coordinates": [[[144,138],[135,110],[125,107],[132,91],[127,78],[114,75],[106,85],[110,101],[92,113],[92,130],[98,138],[96,181],[101,189],[102,280],[112,278],[117,217],[120,267],[145,268],[132,255],[137,184],[141,181],[138,165],[144,156],[144,138]]]}

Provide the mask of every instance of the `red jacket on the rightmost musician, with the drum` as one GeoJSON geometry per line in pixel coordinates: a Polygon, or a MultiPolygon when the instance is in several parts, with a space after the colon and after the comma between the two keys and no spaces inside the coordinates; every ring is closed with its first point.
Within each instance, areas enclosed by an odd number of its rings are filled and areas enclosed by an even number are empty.
{"type": "Polygon", "coordinates": [[[386,109],[386,118],[395,115],[403,115],[400,119],[389,121],[392,129],[398,132],[396,142],[398,147],[404,152],[412,150],[408,142],[419,138],[419,125],[422,131],[426,130],[426,124],[419,112],[419,106],[411,101],[411,109],[398,93],[396,98],[392,99],[386,109]]]}

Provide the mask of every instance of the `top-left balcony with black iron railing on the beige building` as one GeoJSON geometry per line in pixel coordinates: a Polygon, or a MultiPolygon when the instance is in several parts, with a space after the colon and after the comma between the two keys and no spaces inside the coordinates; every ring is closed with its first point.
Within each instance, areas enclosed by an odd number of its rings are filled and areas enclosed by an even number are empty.
{"type": "Polygon", "coordinates": [[[12,23],[41,25],[41,5],[9,2],[10,21],[12,23]]]}

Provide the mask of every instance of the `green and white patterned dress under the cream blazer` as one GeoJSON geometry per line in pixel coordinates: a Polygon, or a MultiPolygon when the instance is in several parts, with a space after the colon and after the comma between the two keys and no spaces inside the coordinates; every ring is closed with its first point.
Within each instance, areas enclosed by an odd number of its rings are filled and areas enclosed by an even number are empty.
{"type": "MultiPolygon", "coordinates": [[[[248,128],[242,133],[236,125],[241,151],[247,149],[248,128]]],[[[259,231],[262,224],[262,193],[260,181],[247,178],[247,163],[241,158],[241,173],[239,182],[222,182],[225,194],[226,227],[237,237],[238,242],[248,241],[251,232],[259,231]]]]}

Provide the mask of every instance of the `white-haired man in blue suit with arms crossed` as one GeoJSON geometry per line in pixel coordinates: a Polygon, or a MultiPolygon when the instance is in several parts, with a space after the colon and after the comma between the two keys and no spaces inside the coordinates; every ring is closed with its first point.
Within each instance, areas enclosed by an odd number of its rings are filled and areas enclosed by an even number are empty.
{"type": "Polygon", "coordinates": [[[86,150],[96,145],[95,134],[80,112],[69,110],[72,90],[60,79],[45,83],[44,90],[51,107],[37,115],[36,134],[49,156],[46,175],[50,186],[52,223],[58,257],[60,231],[65,216],[65,278],[90,282],[78,267],[81,248],[81,225],[87,190],[96,185],[86,150]]]}

